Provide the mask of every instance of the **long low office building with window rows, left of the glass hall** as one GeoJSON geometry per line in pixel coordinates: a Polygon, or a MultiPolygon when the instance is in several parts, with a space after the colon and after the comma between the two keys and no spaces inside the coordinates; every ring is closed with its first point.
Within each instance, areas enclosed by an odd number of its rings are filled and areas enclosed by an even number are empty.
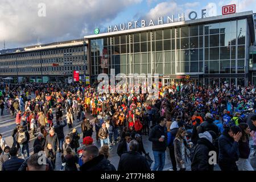
{"type": "Polygon", "coordinates": [[[14,82],[68,82],[73,71],[79,71],[80,76],[89,75],[84,39],[10,50],[1,51],[0,78],[12,77],[14,82]]]}

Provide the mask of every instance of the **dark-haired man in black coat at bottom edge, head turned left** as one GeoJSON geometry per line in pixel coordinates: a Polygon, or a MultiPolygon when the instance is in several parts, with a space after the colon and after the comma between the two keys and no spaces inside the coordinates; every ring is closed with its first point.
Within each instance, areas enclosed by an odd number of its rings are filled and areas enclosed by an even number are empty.
{"type": "Polygon", "coordinates": [[[98,147],[88,146],[82,152],[80,171],[115,171],[115,167],[104,155],[99,154],[98,147]]]}

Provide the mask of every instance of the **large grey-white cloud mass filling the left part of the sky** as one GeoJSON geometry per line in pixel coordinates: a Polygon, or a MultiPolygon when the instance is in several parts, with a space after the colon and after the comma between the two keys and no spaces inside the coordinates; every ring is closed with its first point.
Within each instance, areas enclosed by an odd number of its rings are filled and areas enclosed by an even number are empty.
{"type": "Polygon", "coordinates": [[[97,25],[142,0],[1,0],[0,42],[7,45],[35,44],[82,38],[97,25]],[[46,4],[46,17],[38,16],[38,4],[46,4]]]}

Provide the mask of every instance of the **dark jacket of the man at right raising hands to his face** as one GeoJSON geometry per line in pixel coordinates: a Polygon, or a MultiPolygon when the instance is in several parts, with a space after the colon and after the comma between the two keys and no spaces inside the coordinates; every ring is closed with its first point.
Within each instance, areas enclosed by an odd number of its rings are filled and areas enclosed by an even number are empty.
{"type": "Polygon", "coordinates": [[[218,148],[220,151],[218,162],[230,165],[231,167],[236,165],[239,156],[238,146],[238,142],[235,142],[234,139],[229,136],[227,131],[224,131],[218,138],[218,148]]]}

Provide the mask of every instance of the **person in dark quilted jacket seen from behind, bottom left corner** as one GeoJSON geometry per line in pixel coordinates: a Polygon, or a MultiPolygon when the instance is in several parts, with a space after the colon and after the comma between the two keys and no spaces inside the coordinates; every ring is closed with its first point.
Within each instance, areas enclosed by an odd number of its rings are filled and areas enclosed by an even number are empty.
{"type": "Polygon", "coordinates": [[[24,162],[24,159],[17,157],[18,150],[16,147],[11,147],[9,154],[11,158],[3,163],[2,171],[18,171],[19,167],[24,162]]]}

